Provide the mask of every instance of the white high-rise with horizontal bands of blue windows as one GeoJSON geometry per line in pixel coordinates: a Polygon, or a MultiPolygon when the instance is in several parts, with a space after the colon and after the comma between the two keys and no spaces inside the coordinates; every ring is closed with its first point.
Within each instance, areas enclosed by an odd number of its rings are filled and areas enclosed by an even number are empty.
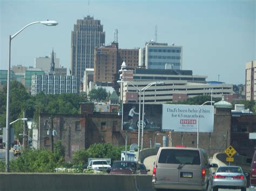
{"type": "MultiPolygon", "coordinates": [[[[126,62],[127,63],[127,62],[126,62]]],[[[139,67],[146,69],[182,69],[182,46],[146,43],[139,49],[139,67]]]]}

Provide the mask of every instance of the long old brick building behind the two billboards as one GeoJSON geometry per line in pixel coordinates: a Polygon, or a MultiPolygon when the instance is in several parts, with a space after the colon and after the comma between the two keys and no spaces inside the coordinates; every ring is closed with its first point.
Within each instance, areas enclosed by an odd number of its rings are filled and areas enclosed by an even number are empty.
{"type": "MultiPolygon", "coordinates": [[[[204,148],[212,156],[216,152],[224,152],[227,146],[232,145],[238,153],[250,156],[251,150],[255,147],[255,140],[248,139],[248,132],[256,131],[255,115],[233,118],[231,117],[232,105],[224,100],[215,103],[214,107],[214,130],[211,133],[199,133],[199,147],[204,148]],[[234,131],[235,126],[241,131],[234,131]]],[[[116,112],[93,112],[93,110],[93,103],[81,103],[80,115],[52,115],[53,130],[56,131],[53,140],[54,142],[62,141],[66,160],[70,160],[72,154],[79,148],[88,148],[95,143],[125,145],[122,116],[117,115],[116,112]]],[[[150,147],[150,143],[152,146],[154,143],[163,145],[163,136],[157,133],[159,131],[144,131],[144,148],[150,147]]],[[[161,132],[163,133],[170,137],[169,146],[197,147],[197,133],[161,132]]],[[[39,148],[51,150],[50,114],[40,114],[38,134],[39,148]],[[48,132],[50,132],[49,135],[48,132]]],[[[127,144],[133,143],[138,144],[138,132],[129,131],[127,144]]]]}

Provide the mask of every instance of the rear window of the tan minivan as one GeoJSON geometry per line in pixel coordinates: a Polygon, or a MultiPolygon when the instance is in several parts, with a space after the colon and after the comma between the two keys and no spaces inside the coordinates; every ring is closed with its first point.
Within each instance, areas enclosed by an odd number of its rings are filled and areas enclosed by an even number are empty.
{"type": "Polygon", "coordinates": [[[200,165],[200,154],[197,150],[163,149],[159,155],[159,163],[200,165]]]}

